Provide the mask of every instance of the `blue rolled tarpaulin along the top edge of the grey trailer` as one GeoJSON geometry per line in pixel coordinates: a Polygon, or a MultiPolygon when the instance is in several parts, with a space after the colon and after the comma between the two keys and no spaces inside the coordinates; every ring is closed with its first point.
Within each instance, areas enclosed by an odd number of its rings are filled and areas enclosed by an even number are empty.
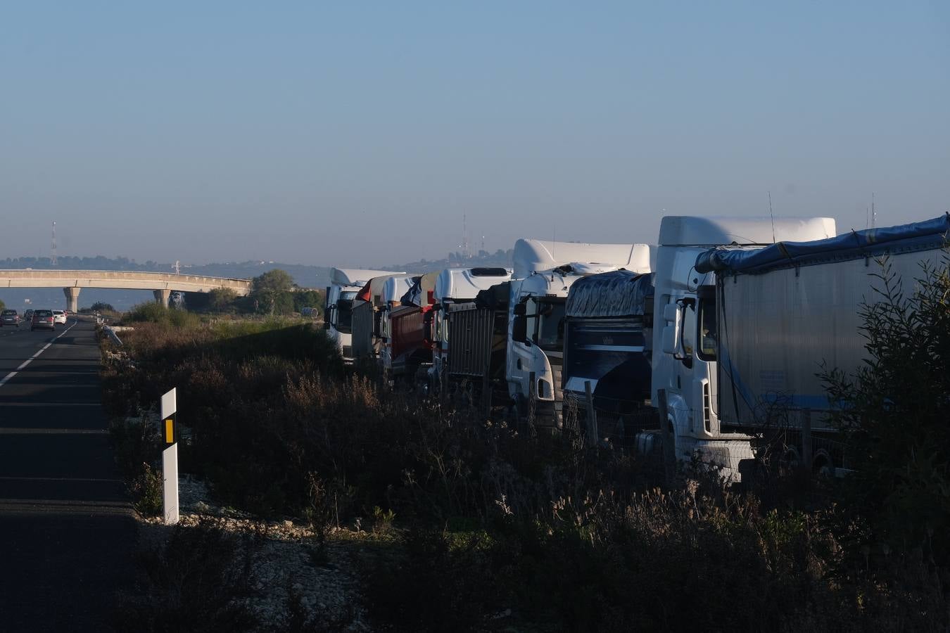
{"type": "MultiPolygon", "coordinates": [[[[950,214],[895,227],[852,231],[812,242],[778,242],[754,251],[720,247],[700,253],[697,272],[756,274],[768,270],[812,266],[888,253],[926,251],[947,244],[950,214]]],[[[573,292],[574,290],[571,289],[573,292]]]]}

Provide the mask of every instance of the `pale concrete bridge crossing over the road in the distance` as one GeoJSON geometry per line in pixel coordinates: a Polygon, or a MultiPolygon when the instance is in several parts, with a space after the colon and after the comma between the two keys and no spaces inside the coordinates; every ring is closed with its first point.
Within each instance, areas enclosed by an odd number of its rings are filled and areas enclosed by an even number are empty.
{"type": "Polygon", "coordinates": [[[0,270],[3,288],[62,288],[66,309],[75,312],[79,309],[79,291],[84,288],[152,290],[155,300],[168,306],[171,293],[176,291],[228,288],[243,296],[251,291],[251,280],[131,270],[0,270]]]}

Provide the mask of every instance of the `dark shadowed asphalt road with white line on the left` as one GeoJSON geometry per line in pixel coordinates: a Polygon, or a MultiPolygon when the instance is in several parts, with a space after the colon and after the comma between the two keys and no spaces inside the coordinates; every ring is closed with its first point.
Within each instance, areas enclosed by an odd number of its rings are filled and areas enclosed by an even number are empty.
{"type": "Polygon", "coordinates": [[[0,631],[108,631],[135,522],[91,324],[0,327],[0,631]],[[31,359],[31,360],[30,360],[31,359]]]}

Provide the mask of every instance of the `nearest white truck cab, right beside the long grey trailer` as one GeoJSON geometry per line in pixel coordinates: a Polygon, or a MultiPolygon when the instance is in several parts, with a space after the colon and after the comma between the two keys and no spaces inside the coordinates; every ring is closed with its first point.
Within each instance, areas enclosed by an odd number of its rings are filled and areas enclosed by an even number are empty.
{"type": "Polygon", "coordinates": [[[717,354],[705,331],[714,326],[717,275],[696,270],[696,260],[712,249],[748,252],[773,244],[781,249],[778,242],[834,235],[835,222],[830,217],[668,215],[660,220],[651,367],[651,402],[660,428],[658,434],[645,432],[637,439],[639,446],[648,451],[655,440],[670,442],[663,450],[676,459],[698,456],[721,466],[724,475],[740,478],[739,462],[753,457],[750,436],[720,419],[717,354]]]}

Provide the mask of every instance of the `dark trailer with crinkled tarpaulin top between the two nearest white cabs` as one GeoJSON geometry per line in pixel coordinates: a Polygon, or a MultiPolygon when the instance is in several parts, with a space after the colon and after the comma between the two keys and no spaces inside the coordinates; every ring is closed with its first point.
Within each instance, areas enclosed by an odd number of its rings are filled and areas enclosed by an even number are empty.
{"type": "Polygon", "coordinates": [[[630,448],[638,433],[656,428],[654,276],[601,272],[579,279],[567,294],[561,388],[592,440],[630,448]]]}

